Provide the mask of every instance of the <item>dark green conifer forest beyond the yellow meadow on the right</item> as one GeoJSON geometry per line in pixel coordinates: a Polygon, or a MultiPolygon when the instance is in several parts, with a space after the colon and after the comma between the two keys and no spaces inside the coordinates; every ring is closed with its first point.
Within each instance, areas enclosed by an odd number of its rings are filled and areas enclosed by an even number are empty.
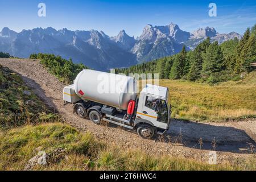
{"type": "Polygon", "coordinates": [[[241,73],[253,70],[256,61],[256,24],[247,28],[241,40],[228,40],[220,45],[210,43],[210,38],[201,42],[193,51],[185,46],[180,53],[163,57],[130,68],[116,69],[117,73],[159,73],[160,79],[184,79],[214,84],[237,80],[241,73]]]}

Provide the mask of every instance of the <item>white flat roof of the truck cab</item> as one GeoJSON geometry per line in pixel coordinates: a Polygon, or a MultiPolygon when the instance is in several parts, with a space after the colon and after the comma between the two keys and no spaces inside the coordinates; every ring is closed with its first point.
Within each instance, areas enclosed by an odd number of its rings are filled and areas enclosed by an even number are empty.
{"type": "Polygon", "coordinates": [[[159,96],[162,98],[167,98],[168,88],[158,85],[147,84],[145,88],[142,89],[142,93],[151,94],[154,96],[159,96]]]}

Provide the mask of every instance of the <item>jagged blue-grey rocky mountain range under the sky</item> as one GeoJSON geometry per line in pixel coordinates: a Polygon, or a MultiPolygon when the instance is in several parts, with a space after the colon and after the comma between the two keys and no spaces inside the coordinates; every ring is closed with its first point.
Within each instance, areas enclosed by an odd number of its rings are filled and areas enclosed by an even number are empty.
{"type": "Polygon", "coordinates": [[[34,28],[15,32],[5,27],[0,32],[0,51],[17,57],[29,57],[31,53],[53,53],[65,59],[72,57],[75,63],[106,70],[129,67],[130,65],[174,55],[186,48],[194,49],[207,37],[223,43],[242,36],[236,32],[219,34],[214,28],[199,28],[186,32],[171,23],[167,26],[143,28],[137,39],[126,34],[125,30],[110,37],[102,31],[71,31],[67,28],[55,30],[52,27],[34,28]]]}

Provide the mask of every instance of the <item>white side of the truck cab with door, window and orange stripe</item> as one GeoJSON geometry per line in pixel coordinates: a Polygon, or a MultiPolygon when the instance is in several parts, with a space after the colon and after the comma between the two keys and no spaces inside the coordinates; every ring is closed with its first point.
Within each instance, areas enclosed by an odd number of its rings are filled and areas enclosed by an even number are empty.
{"type": "Polygon", "coordinates": [[[165,118],[163,118],[162,114],[159,113],[159,109],[160,106],[162,106],[162,102],[163,100],[161,100],[160,98],[144,94],[143,102],[141,102],[141,107],[138,108],[137,114],[139,114],[139,116],[142,119],[146,119],[152,122],[154,126],[166,129],[167,123],[163,122],[165,118]],[[160,117],[158,113],[160,114],[160,117]]]}

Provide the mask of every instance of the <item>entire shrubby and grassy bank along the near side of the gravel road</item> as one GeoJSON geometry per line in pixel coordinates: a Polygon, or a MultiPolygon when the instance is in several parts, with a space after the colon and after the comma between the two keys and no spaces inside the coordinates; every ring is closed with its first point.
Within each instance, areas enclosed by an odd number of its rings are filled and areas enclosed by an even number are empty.
{"type": "Polygon", "coordinates": [[[19,75],[8,68],[0,68],[0,170],[256,169],[254,158],[209,165],[168,155],[146,155],[138,150],[123,151],[97,140],[89,132],[80,133],[61,123],[61,118],[47,109],[19,75]],[[28,106],[27,101],[35,105],[28,106]],[[35,159],[42,152],[46,154],[45,164],[35,159]]]}

